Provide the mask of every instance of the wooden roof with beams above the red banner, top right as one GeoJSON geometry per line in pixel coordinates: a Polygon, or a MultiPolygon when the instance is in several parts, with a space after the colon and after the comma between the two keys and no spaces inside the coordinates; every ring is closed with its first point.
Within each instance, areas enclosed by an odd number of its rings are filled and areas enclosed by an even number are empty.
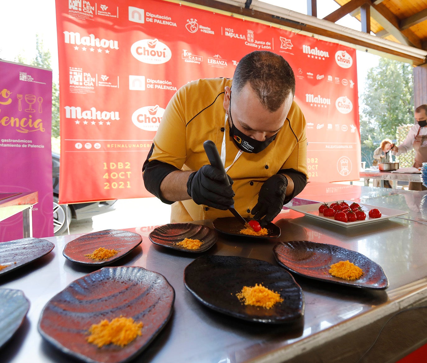
{"type": "MultiPolygon", "coordinates": [[[[296,0],[304,1],[304,0],[296,0]]],[[[317,19],[317,1],[307,1],[307,15],[317,19]]],[[[353,44],[358,49],[390,55],[401,60],[409,61],[414,66],[426,63],[427,55],[427,0],[334,0],[340,8],[323,18],[325,23],[335,23],[347,14],[356,17],[361,22],[362,32],[370,35],[357,36],[347,34],[336,29],[327,29],[328,26],[319,25],[319,21],[295,22],[283,15],[274,12],[254,10],[259,1],[252,0],[187,0],[201,6],[252,17],[269,23],[276,23],[292,29],[299,29],[313,35],[320,35],[333,40],[353,44]],[[252,4],[253,3],[253,4],[252,4]],[[368,37],[368,38],[369,38],[368,37]],[[378,43],[376,38],[389,41],[378,43]],[[392,46],[390,44],[395,44],[392,46]],[[402,46],[400,46],[402,45],[402,46]],[[407,47],[407,48],[405,48],[407,47]],[[409,47],[409,48],[408,48],[409,47]],[[408,51],[413,49],[416,55],[408,51]],[[420,53],[421,50],[421,55],[420,53]]],[[[286,10],[286,9],[285,9],[286,10]]],[[[310,17],[308,17],[310,19],[310,17]]],[[[359,33],[359,32],[357,32],[359,33]]],[[[360,33],[359,33],[360,34],[360,33]]]]}

